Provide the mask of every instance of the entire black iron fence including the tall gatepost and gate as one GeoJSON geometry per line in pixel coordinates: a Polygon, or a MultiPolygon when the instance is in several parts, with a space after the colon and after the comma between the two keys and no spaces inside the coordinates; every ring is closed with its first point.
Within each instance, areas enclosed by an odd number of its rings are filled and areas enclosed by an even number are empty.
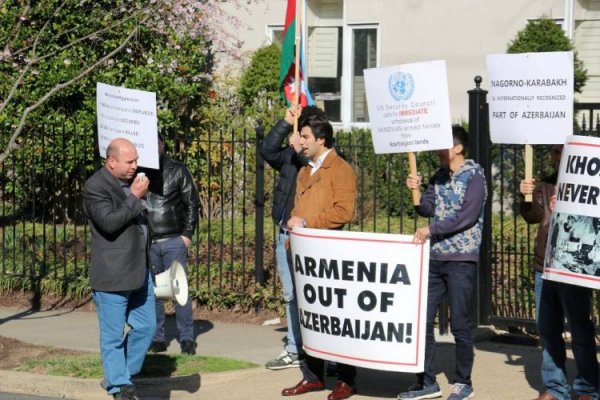
{"type": "MultiPolygon", "coordinates": [[[[517,213],[522,147],[490,143],[486,91],[480,82],[476,79],[468,92],[469,152],[484,166],[490,189],[476,320],[533,327],[528,265],[536,227],[527,226],[517,213]]],[[[576,109],[581,130],[598,135],[600,104],[577,104],[576,109]]],[[[202,137],[166,134],[168,154],[188,165],[198,185],[201,218],[190,247],[189,283],[192,295],[211,306],[249,308],[261,293],[280,297],[276,229],[270,218],[276,173],[257,155],[263,135],[262,128],[214,130],[202,137]]],[[[2,148],[7,137],[5,129],[2,148]]],[[[1,289],[65,296],[89,292],[89,232],[81,192],[101,166],[94,138],[92,127],[73,122],[41,127],[25,135],[0,165],[1,289]]],[[[336,141],[357,174],[357,212],[346,229],[412,234],[427,222],[414,214],[405,188],[406,155],[375,155],[365,130],[339,132],[336,141]]],[[[547,173],[547,151],[548,146],[535,148],[536,177],[547,173]]],[[[436,166],[433,154],[419,155],[423,176],[436,166]]],[[[442,327],[446,318],[442,313],[442,327]]],[[[597,312],[595,318],[598,325],[597,312]]]]}

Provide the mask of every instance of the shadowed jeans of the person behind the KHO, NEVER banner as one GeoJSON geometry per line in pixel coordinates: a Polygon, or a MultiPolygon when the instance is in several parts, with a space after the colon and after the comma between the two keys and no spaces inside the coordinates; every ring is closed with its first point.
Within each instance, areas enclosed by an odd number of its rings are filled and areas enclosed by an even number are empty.
{"type": "Polygon", "coordinates": [[[573,390],[578,396],[598,399],[598,359],[595,328],[590,319],[592,290],[545,280],[540,299],[539,329],[542,353],[542,382],[559,400],[570,399],[565,366],[564,320],[571,332],[571,349],[577,365],[573,390]]]}

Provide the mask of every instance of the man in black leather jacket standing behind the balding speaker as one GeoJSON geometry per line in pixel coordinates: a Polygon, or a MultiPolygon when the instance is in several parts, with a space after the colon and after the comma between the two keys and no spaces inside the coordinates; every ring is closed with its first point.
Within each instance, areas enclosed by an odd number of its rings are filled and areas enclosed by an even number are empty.
{"type": "MultiPolygon", "coordinates": [[[[174,260],[187,272],[188,246],[198,223],[198,191],[185,164],[164,155],[164,142],[159,136],[160,169],[145,170],[151,179],[147,195],[148,219],[152,232],[150,261],[153,273],[167,270],[174,260]]],[[[192,302],[175,303],[179,344],[183,354],[195,354],[192,302]]],[[[150,351],[167,350],[165,339],[164,300],[156,299],[156,333],[150,351]]]]}

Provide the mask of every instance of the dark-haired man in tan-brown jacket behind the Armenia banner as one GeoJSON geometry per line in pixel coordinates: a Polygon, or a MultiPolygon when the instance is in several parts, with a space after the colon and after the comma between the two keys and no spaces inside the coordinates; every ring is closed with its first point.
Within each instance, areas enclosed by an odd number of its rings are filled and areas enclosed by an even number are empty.
{"type": "MultiPolygon", "coordinates": [[[[341,229],[354,216],[356,175],[333,148],[333,128],[317,107],[302,110],[299,119],[300,145],[309,165],[298,173],[294,209],[287,225],[315,229],[341,229]]],[[[324,361],[306,357],[301,365],[302,380],[283,389],[283,396],[295,396],[324,389],[324,361]]],[[[342,400],[355,392],[353,366],[337,364],[338,381],[328,400],[342,400]]]]}

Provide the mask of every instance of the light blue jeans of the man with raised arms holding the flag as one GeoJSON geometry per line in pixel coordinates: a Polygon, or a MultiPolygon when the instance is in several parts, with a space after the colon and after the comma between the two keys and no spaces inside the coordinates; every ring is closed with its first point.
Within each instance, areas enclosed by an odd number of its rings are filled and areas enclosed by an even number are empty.
{"type": "Polygon", "coordinates": [[[298,354],[302,350],[302,337],[300,336],[298,302],[296,301],[296,292],[294,291],[294,264],[291,252],[285,248],[285,241],[288,239],[289,234],[287,232],[279,232],[275,257],[277,258],[277,271],[279,272],[279,279],[283,288],[285,313],[287,315],[288,333],[286,350],[290,353],[298,354]]]}

